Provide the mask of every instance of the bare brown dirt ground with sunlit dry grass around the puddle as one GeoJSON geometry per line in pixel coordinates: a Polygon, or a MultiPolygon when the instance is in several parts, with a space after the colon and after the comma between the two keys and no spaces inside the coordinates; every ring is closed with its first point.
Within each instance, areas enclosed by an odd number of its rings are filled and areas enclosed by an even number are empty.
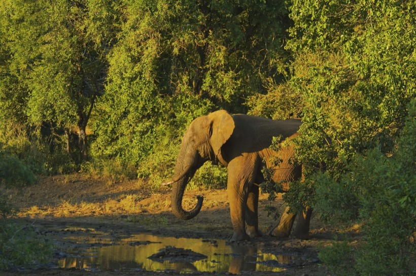
{"type": "MultiPolygon", "coordinates": [[[[187,237],[198,239],[228,240],[232,234],[229,217],[229,204],[226,191],[198,190],[187,191],[184,196],[184,208],[191,209],[196,203],[196,195],[204,196],[201,212],[194,219],[182,221],[170,212],[170,188],[163,187],[152,192],[143,181],[109,181],[86,175],[44,177],[40,183],[30,187],[6,189],[0,193],[9,196],[11,202],[19,208],[17,220],[31,223],[40,233],[56,244],[56,251],[61,252],[65,245],[59,243],[62,231],[52,228],[73,227],[82,229],[99,229],[111,233],[116,239],[135,233],[148,232],[155,235],[187,237]]],[[[325,266],[320,263],[318,249],[326,246],[333,238],[335,231],[326,229],[318,217],[313,215],[310,227],[310,239],[299,240],[293,237],[277,239],[267,235],[275,221],[267,217],[264,207],[270,204],[267,194],[260,195],[259,228],[262,237],[244,243],[261,245],[263,252],[300,254],[302,258],[295,261],[288,269],[278,272],[279,275],[329,275],[325,266]]],[[[282,211],[281,197],[272,202],[282,211]]],[[[74,231],[74,234],[77,234],[74,231]]],[[[85,233],[84,233],[85,234],[85,233]]],[[[55,259],[52,262],[57,262],[55,259]]],[[[238,271],[237,271],[238,272],[238,271]]],[[[229,272],[197,272],[196,274],[229,275],[229,272]]],[[[240,274],[258,276],[276,272],[256,271],[240,274]]],[[[20,275],[21,271],[0,271],[5,276],[20,275]]],[[[85,271],[79,269],[62,269],[46,266],[25,272],[26,275],[137,275],[135,271],[85,271]]],[[[141,275],[176,275],[172,271],[141,271],[141,275]]]]}

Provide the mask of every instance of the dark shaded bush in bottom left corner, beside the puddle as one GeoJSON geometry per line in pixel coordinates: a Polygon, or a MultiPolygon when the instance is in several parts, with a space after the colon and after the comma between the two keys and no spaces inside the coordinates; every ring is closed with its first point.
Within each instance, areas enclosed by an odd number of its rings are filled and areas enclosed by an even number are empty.
{"type": "Polygon", "coordinates": [[[33,268],[35,264],[49,261],[52,253],[52,245],[32,225],[0,219],[0,269],[33,268]]]}

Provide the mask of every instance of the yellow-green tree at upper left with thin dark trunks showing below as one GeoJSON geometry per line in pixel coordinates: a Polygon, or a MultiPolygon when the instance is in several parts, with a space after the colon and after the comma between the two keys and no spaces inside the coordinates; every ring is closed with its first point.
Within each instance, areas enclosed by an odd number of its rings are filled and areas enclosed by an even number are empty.
{"type": "Polygon", "coordinates": [[[21,0],[2,8],[7,71],[25,84],[25,115],[55,134],[64,129],[67,140],[71,126],[78,126],[81,160],[88,155],[86,126],[103,93],[117,8],[117,2],[100,0],[21,0]]]}

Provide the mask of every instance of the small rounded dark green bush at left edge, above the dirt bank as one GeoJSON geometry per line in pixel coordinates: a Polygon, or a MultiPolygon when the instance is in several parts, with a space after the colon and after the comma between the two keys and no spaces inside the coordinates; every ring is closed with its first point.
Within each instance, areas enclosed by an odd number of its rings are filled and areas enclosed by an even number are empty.
{"type": "Polygon", "coordinates": [[[0,152],[0,183],[9,186],[33,185],[36,176],[19,158],[0,152]]]}

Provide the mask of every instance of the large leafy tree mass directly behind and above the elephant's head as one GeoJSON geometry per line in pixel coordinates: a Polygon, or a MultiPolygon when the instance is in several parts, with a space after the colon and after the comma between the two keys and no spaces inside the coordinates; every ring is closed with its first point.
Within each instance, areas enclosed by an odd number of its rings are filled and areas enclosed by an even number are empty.
{"type": "Polygon", "coordinates": [[[172,167],[172,148],[193,118],[245,112],[250,95],[287,73],[282,1],[131,0],[122,18],[95,118],[97,156],[137,164],[171,155],[158,166],[172,167]]]}

